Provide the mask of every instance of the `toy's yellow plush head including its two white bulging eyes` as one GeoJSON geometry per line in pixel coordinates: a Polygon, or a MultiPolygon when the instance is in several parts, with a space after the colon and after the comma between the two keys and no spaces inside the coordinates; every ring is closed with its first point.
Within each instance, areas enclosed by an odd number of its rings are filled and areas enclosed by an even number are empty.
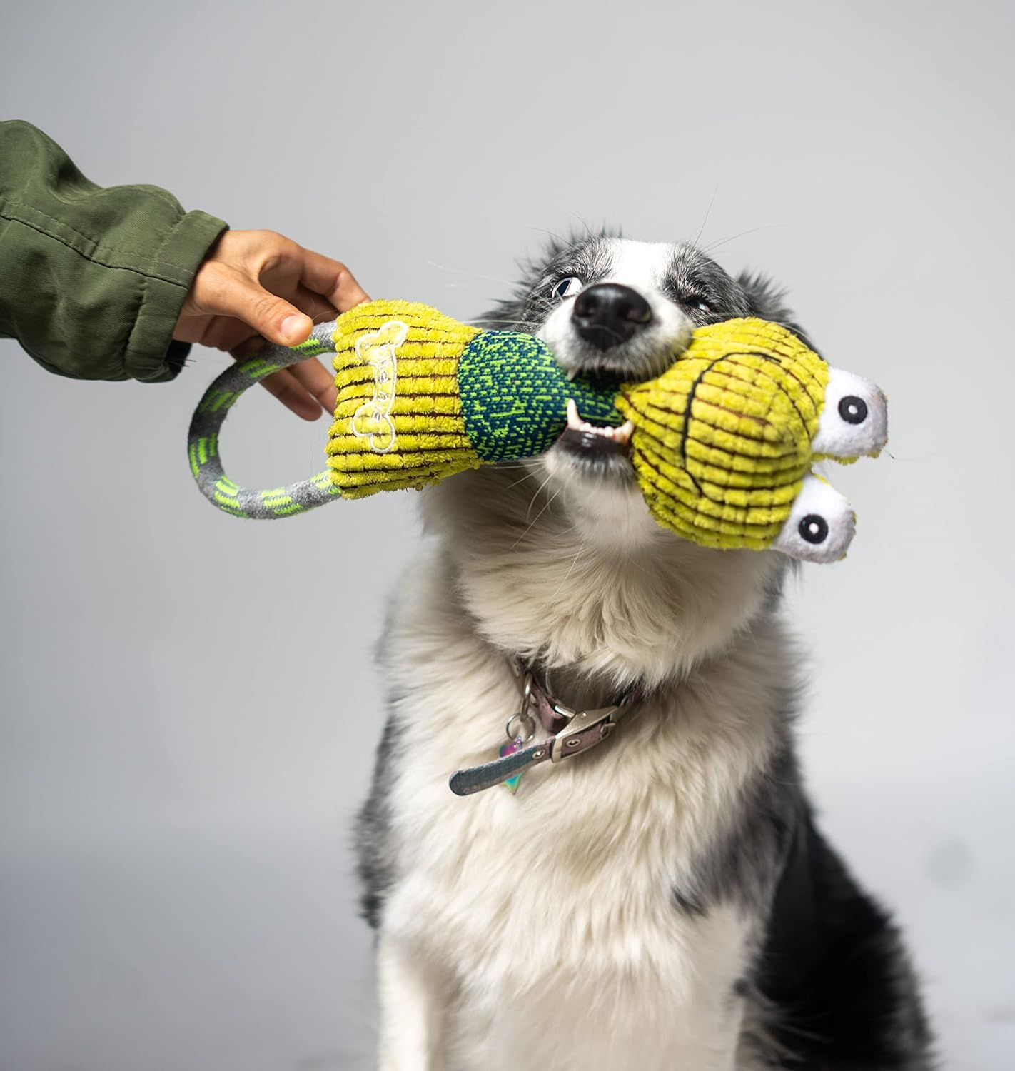
{"type": "Polygon", "coordinates": [[[842,558],[853,536],[852,510],[813,462],[876,454],[888,435],[874,383],[758,319],[699,328],[662,376],[625,384],[618,407],[662,525],[706,546],[812,561],[842,558]]]}

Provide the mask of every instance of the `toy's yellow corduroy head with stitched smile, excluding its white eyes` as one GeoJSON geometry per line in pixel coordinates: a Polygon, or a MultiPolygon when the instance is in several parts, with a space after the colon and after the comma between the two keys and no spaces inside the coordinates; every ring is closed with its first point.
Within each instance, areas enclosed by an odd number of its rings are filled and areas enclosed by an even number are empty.
{"type": "Polygon", "coordinates": [[[809,471],[828,379],[791,332],[739,319],[699,328],[662,376],[624,384],[617,408],[655,518],[706,546],[768,546],[809,471]]]}

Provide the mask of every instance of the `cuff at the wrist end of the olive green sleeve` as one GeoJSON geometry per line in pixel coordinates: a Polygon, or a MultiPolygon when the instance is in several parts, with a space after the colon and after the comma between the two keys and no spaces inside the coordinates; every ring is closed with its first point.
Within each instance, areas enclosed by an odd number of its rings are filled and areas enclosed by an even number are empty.
{"type": "Polygon", "coordinates": [[[226,229],[222,220],[207,212],[187,212],[166,236],[141,284],[127,340],[124,371],[132,379],[161,383],[180,372],[183,362],[173,349],[172,332],[197,269],[226,229]]]}

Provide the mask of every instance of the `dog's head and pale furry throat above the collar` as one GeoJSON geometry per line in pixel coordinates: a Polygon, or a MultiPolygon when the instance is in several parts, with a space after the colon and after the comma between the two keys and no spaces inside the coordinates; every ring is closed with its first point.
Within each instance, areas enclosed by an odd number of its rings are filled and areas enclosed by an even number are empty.
{"type": "MultiPolygon", "coordinates": [[[[733,277],[693,245],[595,236],[555,244],[476,323],[540,335],[567,372],[620,383],[657,375],[695,328],[738,316],[802,335],[761,276],[733,277]]],[[[617,680],[664,679],[728,644],[785,567],[775,554],[709,550],[661,528],[624,431],[574,411],[543,456],[456,477],[428,500],[491,639],[617,680]]]]}

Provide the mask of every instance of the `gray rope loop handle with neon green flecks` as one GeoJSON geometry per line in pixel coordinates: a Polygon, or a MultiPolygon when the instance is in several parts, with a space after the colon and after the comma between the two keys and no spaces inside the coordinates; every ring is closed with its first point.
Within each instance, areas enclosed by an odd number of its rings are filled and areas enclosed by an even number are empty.
{"type": "Polygon", "coordinates": [[[299,346],[266,346],[256,357],[227,368],[204,392],[191,418],[187,456],[197,486],[212,506],[237,517],[274,521],[314,510],[340,495],[339,488],[332,482],[331,470],[327,468],[308,480],[284,487],[267,491],[241,487],[226,476],[218,452],[223,421],[237,398],[279,368],[298,364],[309,357],[333,353],[334,330],[334,320],[318,323],[310,337],[299,346]]]}

